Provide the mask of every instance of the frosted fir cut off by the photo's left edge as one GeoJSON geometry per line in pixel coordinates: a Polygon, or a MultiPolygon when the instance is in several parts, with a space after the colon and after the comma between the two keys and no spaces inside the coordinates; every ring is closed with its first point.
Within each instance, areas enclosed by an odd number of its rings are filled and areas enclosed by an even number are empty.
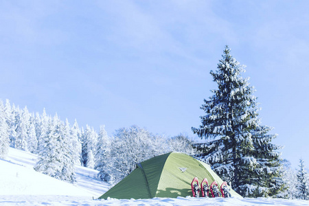
{"type": "Polygon", "coordinates": [[[0,100],[0,158],[5,158],[8,155],[10,146],[10,138],[8,133],[8,124],[5,119],[5,106],[0,100]]]}

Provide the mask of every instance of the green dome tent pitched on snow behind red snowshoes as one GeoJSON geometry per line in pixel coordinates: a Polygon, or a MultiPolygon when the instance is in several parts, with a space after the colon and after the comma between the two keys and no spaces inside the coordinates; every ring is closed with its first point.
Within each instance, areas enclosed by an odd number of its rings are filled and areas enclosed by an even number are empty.
{"type": "MultiPolygon", "coordinates": [[[[211,170],[207,163],[198,161],[189,155],[170,152],[137,164],[126,178],[99,198],[154,198],[192,196],[191,182],[194,176],[201,181],[206,177],[209,185],[217,181],[219,187],[222,179],[211,170]]],[[[231,190],[231,196],[238,196],[231,190]]]]}

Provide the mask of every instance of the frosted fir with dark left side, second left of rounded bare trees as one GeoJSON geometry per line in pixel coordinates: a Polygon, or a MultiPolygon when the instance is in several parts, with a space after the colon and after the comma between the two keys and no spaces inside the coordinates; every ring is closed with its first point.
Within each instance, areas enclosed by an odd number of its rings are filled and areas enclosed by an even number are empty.
{"type": "Polygon", "coordinates": [[[95,144],[97,134],[91,129],[90,126],[86,126],[84,133],[82,134],[82,165],[87,168],[94,168],[95,160],[93,152],[95,152],[95,144]]]}

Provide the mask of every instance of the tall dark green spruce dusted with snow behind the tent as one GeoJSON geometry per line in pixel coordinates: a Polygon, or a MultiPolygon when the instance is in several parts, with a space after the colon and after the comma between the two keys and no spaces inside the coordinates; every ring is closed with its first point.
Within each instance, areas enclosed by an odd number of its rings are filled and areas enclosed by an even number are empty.
{"type": "Polygon", "coordinates": [[[242,78],[240,66],[225,47],[217,71],[211,71],[218,89],[201,109],[200,128],[192,130],[205,144],[197,144],[200,157],[242,196],[273,196],[282,189],[279,177],[280,147],[271,144],[276,135],[261,126],[258,103],[248,78],[242,78]]]}

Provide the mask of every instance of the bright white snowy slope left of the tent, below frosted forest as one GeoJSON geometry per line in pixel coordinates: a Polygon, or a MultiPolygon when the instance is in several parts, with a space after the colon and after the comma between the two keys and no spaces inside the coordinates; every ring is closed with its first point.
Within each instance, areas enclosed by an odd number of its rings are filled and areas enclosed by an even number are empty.
{"type": "Polygon", "coordinates": [[[76,167],[74,185],[54,179],[33,167],[36,155],[10,148],[8,158],[0,159],[1,195],[63,195],[98,198],[108,190],[108,185],[95,179],[97,170],[76,167]]]}

